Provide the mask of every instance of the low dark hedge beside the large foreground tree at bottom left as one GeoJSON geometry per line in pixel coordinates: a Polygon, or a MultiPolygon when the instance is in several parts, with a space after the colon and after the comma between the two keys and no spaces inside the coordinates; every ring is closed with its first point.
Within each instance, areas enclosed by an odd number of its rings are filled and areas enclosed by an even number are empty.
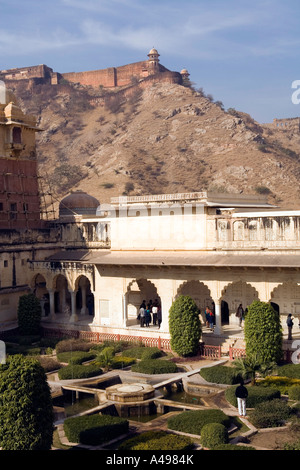
{"type": "Polygon", "coordinates": [[[64,431],[70,442],[99,445],[126,434],[129,423],[126,419],[109,415],[89,415],[67,418],[64,431]]]}

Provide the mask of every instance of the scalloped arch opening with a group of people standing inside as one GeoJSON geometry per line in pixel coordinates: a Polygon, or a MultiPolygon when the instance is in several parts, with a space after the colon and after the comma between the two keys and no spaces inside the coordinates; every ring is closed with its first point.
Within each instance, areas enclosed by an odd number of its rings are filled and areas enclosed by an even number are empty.
{"type": "MultiPolygon", "coordinates": [[[[157,292],[157,287],[153,282],[148,279],[133,279],[127,286],[125,293],[125,321],[126,326],[137,324],[138,314],[141,304],[145,302],[147,305],[152,305],[157,301],[159,308],[161,308],[161,299],[157,292]]],[[[151,322],[153,318],[151,317],[151,322]]]]}

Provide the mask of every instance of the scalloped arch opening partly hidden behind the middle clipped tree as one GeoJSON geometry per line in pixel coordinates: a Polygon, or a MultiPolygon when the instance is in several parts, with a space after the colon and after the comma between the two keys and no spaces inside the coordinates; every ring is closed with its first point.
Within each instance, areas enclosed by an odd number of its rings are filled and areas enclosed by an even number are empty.
{"type": "Polygon", "coordinates": [[[212,311],[215,308],[210,289],[207,285],[199,280],[185,281],[178,287],[175,299],[180,295],[189,295],[196,302],[202,322],[205,324],[205,308],[209,307],[212,311]]]}

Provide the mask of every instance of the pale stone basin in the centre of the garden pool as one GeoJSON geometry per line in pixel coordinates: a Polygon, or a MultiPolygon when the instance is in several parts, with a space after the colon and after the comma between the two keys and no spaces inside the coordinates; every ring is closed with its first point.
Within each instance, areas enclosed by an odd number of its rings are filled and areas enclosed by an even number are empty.
{"type": "Polygon", "coordinates": [[[121,403],[149,400],[155,389],[149,384],[117,384],[107,387],[106,398],[121,403]]]}

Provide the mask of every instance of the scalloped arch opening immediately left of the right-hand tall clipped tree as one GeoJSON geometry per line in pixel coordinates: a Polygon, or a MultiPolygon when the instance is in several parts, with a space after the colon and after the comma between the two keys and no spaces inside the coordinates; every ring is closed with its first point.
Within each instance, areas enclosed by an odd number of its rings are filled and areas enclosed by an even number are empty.
{"type": "Polygon", "coordinates": [[[235,314],[240,304],[245,310],[255,300],[259,300],[257,290],[245,281],[235,281],[225,286],[222,291],[221,301],[226,302],[228,305],[229,323],[237,323],[238,319],[235,314]]]}

